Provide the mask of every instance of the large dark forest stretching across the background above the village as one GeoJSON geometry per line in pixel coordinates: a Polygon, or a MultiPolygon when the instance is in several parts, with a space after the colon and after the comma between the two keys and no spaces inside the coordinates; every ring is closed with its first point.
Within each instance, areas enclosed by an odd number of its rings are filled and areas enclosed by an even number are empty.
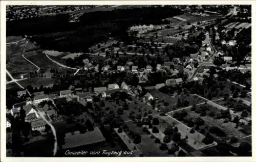
{"type": "Polygon", "coordinates": [[[84,13],[79,22],[68,14],[7,22],[7,36],[28,35],[41,48],[89,52],[88,47],[113,37],[131,43],[127,29],[135,24],[161,24],[161,19],[182,14],[170,6],[117,9],[84,13]]]}

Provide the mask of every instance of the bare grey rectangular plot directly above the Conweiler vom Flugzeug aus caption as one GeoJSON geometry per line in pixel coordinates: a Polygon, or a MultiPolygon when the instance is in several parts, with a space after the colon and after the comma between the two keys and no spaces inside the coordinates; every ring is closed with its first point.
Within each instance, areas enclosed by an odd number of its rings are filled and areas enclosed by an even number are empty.
{"type": "Polygon", "coordinates": [[[93,131],[86,133],[80,133],[75,131],[72,133],[66,133],[65,144],[62,146],[63,149],[74,148],[83,145],[89,145],[105,141],[100,129],[95,127],[93,131]]]}

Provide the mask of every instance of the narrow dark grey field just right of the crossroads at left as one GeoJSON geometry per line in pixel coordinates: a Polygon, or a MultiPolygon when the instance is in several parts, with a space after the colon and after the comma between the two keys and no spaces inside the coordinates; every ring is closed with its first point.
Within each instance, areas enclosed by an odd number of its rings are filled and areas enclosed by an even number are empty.
{"type": "Polygon", "coordinates": [[[41,85],[48,86],[54,84],[55,80],[56,79],[49,77],[31,77],[29,79],[19,81],[19,84],[22,85],[24,88],[26,88],[28,85],[31,85],[33,88],[39,88],[41,85]]]}

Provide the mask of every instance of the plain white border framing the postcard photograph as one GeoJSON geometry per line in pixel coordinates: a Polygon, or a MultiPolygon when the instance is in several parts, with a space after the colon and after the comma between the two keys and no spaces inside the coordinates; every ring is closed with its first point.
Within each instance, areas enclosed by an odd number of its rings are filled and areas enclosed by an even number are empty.
{"type": "MultiPolygon", "coordinates": [[[[256,16],[256,1],[1,1],[1,161],[73,161],[85,160],[82,157],[67,157],[67,158],[45,158],[45,157],[6,157],[6,5],[252,5],[252,44],[255,43],[255,16],[256,16]]],[[[252,45],[252,53],[255,53],[255,47],[252,45]]],[[[254,65],[254,56],[252,54],[252,83],[256,69],[254,65]]],[[[256,61],[256,60],[255,60],[256,61]]],[[[252,84],[252,91],[254,91],[252,84]]],[[[253,93],[252,93],[253,94],[253,93]]],[[[255,96],[252,96],[252,117],[256,116],[254,107],[255,96]]],[[[254,119],[252,120],[252,128],[255,128],[254,119]]],[[[256,161],[254,140],[254,129],[252,129],[252,157],[87,157],[87,161],[107,160],[107,161],[256,161]]]]}

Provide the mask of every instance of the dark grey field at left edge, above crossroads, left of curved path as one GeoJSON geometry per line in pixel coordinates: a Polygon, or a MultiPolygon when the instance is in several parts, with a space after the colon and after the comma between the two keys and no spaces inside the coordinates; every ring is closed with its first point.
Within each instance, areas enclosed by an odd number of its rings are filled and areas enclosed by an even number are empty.
{"type": "Polygon", "coordinates": [[[7,45],[6,68],[14,78],[20,78],[20,74],[28,74],[36,68],[22,57],[24,41],[18,44],[7,45]]]}

